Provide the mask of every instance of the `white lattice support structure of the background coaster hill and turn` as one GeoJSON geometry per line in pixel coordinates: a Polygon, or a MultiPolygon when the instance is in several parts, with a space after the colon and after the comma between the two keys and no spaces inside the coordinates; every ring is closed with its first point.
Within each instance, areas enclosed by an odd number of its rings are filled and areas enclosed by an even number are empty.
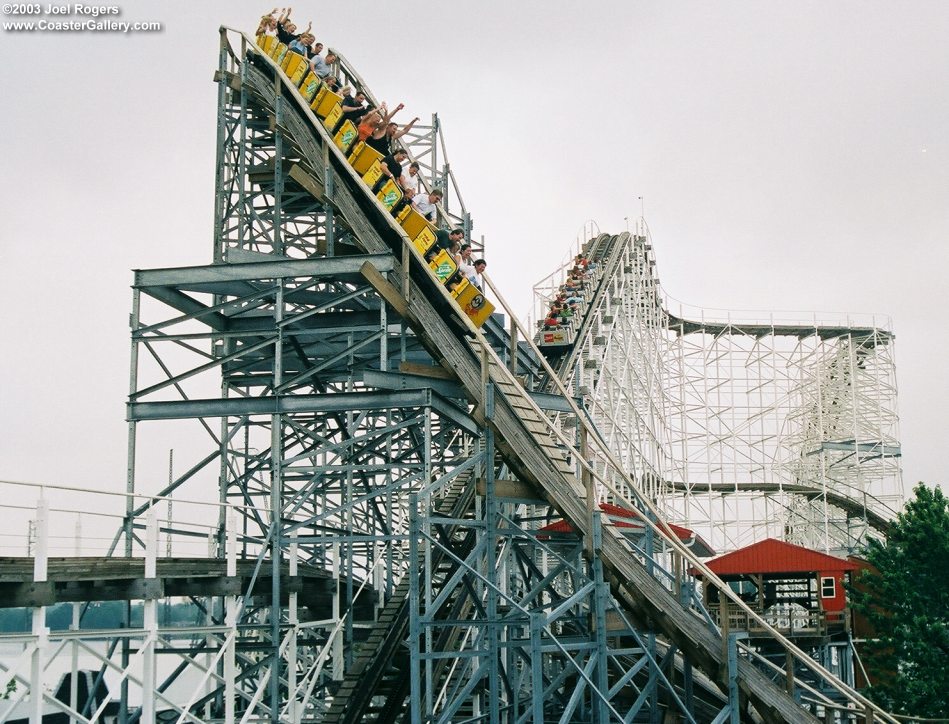
{"type": "Polygon", "coordinates": [[[886,320],[686,309],[644,233],[616,254],[563,374],[640,489],[717,550],[879,536],[903,501],[886,320]]]}

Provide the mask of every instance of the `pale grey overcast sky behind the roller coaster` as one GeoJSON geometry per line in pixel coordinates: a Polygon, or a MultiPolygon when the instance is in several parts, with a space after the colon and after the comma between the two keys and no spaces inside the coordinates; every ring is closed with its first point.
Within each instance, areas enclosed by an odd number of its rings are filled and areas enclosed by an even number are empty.
{"type": "MultiPolygon", "coordinates": [[[[270,10],[119,7],[165,29],[0,33],[0,479],[124,486],[130,269],[210,261],[217,28],[270,10]]],[[[946,483],[949,3],[340,7],[294,16],[439,113],[516,309],[644,196],[683,302],[890,315],[904,480],[946,483]]]]}

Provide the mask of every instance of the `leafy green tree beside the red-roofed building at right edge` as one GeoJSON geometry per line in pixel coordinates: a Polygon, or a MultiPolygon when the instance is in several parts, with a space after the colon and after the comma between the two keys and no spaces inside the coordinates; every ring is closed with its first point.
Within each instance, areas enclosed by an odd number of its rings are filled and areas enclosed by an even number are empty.
{"type": "Polygon", "coordinates": [[[867,694],[890,711],[949,716],[949,499],[920,483],[884,542],[870,541],[850,589],[875,637],[867,694]]]}

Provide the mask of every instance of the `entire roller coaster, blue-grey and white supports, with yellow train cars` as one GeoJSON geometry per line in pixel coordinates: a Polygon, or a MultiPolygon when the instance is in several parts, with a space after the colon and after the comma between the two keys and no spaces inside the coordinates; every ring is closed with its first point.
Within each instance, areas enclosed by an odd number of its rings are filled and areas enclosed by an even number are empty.
{"type": "MultiPolygon", "coordinates": [[[[52,694],[72,652],[129,722],[895,722],[671,525],[719,550],[885,530],[892,335],[673,313],[643,228],[584,241],[596,274],[545,355],[490,279],[447,286],[435,227],[338,95],[278,43],[220,39],[213,263],[135,273],[121,524],[105,555],[62,562],[64,513],[38,504],[32,555],[0,578],[32,611],[5,635],[0,718],[102,721],[106,701],[52,694]],[[193,455],[167,482],[156,430],[193,455]],[[103,600],[123,625],[83,629],[103,600]],[[200,620],[162,623],[170,600],[200,620]],[[55,604],[68,630],[47,627],[55,604]]],[[[470,234],[437,119],[407,140],[470,234]]]]}

